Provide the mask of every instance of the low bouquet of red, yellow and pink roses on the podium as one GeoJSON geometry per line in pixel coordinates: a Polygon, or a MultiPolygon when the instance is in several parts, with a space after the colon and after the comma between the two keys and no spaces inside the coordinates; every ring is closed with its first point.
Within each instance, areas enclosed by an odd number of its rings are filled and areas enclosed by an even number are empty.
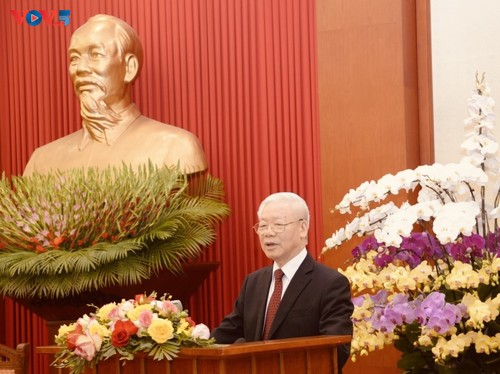
{"type": "Polygon", "coordinates": [[[114,355],[133,360],[143,352],[155,360],[172,360],[181,347],[210,346],[214,339],[208,327],[195,324],[182,305],[153,293],[96,307],[90,316],[62,325],[56,343],[63,349],[52,365],[79,374],[114,355]]]}

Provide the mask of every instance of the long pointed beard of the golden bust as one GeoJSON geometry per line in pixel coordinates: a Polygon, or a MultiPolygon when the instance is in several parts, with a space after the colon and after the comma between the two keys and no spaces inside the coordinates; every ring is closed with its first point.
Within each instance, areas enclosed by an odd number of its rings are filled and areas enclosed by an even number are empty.
{"type": "Polygon", "coordinates": [[[93,140],[109,144],[106,132],[120,121],[121,116],[104,102],[103,97],[105,96],[106,88],[102,83],[95,80],[88,83],[99,87],[102,95],[94,98],[89,91],[83,91],[80,94],[82,125],[93,140]]]}

